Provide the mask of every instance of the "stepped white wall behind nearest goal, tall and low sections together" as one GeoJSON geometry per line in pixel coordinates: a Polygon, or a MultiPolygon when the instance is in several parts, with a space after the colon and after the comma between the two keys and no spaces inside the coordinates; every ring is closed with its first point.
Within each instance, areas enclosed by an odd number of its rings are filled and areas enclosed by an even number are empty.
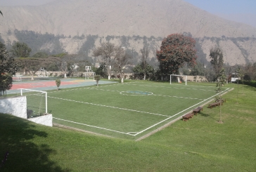
{"type": "MultiPolygon", "coordinates": [[[[28,119],[27,117],[29,115],[27,115],[26,96],[0,98],[0,112],[3,114],[12,114],[23,119],[28,119]]],[[[53,126],[52,114],[45,114],[39,117],[29,118],[28,120],[44,126],[53,126]]]]}

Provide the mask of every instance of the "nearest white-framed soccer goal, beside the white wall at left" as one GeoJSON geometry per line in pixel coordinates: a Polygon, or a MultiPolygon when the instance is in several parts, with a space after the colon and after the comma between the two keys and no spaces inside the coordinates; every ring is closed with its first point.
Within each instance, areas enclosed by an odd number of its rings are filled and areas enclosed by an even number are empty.
{"type": "Polygon", "coordinates": [[[39,117],[48,112],[46,91],[20,88],[20,95],[27,98],[27,118],[39,117]]]}

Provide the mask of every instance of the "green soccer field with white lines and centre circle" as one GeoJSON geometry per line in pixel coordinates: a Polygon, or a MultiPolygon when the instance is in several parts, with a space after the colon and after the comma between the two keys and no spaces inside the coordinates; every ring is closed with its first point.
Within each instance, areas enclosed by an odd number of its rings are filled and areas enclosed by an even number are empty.
{"type": "Polygon", "coordinates": [[[215,90],[150,81],[67,88],[48,91],[48,112],[56,124],[136,140],[211,100],[215,90]]]}

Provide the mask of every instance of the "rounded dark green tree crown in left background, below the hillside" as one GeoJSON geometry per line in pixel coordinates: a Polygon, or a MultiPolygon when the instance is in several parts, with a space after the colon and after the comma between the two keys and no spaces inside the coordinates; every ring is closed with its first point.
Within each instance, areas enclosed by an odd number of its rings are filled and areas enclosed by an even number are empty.
{"type": "Polygon", "coordinates": [[[30,56],[31,48],[25,43],[15,42],[11,52],[15,57],[27,58],[30,56]]]}

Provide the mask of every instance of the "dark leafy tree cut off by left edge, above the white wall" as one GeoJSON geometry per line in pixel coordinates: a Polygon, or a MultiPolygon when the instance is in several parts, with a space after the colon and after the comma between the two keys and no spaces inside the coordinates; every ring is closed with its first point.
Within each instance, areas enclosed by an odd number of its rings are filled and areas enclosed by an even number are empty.
{"type": "Polygon", "coordinates": [[[14,58],[8,54],[4,44],[0,44],[0,96],[4,91],[11,89],[12,75],[18,70],[18,64],[14,58]]]}

